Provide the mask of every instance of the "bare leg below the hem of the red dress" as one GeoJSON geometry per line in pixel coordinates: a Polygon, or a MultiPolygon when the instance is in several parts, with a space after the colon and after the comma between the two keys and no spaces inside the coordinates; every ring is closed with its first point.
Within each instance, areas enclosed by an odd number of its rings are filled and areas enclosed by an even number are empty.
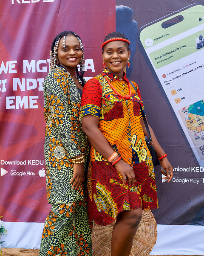
{"type": "Polygon", "coordinates": [[[112,256],[128,256],[130,254],[133,238],[141,218],[142,208],[119,213],[112,233],[112,256]]]}

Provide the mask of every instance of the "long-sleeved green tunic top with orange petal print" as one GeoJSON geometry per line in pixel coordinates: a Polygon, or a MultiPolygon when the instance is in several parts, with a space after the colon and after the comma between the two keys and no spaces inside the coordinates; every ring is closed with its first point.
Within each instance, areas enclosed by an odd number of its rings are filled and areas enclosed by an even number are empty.
{"type": "Polygon", "coordinates": [[[79,121],[81,97],[74,80],[62,67],[48,73],[43,89],[48,202],[73,203],[83,199],[84,191],[83,186],[77,191],[71,189],[71,158],[82,153],[86,158],[89,153],[88,139],[79,121]]]}

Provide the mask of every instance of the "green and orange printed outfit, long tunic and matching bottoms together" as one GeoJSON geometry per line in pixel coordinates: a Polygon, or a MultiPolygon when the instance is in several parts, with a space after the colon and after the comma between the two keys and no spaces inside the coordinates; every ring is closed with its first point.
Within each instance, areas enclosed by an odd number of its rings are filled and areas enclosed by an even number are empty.
{"type": "Polygon", "coordinates": [[[74,174],[71,158],[84,154],[86,166],[89,154],[88,139],[79,121],[81,97],[62,67],[48,74],[43,88],[47,198],[52,207],[45,220],[39,255],[91,256],[92,222],[87,216],[85,179],[76,191],[70,184],[74,174]]]}

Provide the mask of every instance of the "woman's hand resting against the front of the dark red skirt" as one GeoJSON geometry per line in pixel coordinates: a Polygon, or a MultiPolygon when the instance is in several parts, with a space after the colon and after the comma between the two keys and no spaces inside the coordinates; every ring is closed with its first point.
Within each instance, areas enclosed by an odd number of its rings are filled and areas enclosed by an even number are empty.
{"type": "Polygon", "coordinates": [[[128,185],[133,186],[135,182],[135,174],[132,167],[122,160],[119,160],[118,163],[116,163],[114,166],[117,172],[122,175],[123,185],[126,184],[126,180],[128,179],[128,185]]]}

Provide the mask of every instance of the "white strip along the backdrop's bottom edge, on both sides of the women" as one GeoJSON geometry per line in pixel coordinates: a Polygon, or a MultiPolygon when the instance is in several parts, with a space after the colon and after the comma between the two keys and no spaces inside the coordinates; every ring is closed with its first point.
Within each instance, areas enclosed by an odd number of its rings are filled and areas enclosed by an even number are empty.
{"type": "MultiPolygon", "coordinates": [[[[6,240],[3,247],[40,248],[43,223],[3,224],[8,233],[2,237],[6,240]]],[[[204,226],[157,225],[157,229],[157,242],[150,255],[204,255],[204,226]]]]}

